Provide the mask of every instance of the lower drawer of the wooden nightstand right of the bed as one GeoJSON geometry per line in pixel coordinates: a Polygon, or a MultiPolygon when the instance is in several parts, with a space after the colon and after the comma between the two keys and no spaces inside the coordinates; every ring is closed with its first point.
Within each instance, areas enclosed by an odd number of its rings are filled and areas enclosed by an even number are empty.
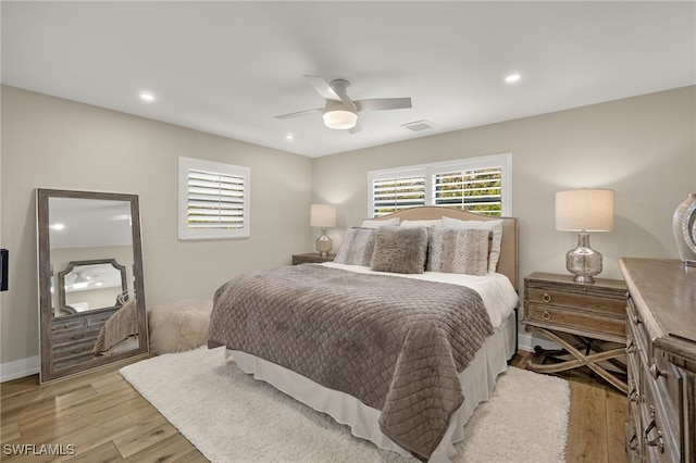
{"type": "Polygon", "coordinates": [[[527,302],[524,312],[524,323],[542,327],[552,327],[573,334],[591,335],[597,337],[597,339],[616,342],[625,341],[625,318],[602,316],[582,310],[527,302]]]}

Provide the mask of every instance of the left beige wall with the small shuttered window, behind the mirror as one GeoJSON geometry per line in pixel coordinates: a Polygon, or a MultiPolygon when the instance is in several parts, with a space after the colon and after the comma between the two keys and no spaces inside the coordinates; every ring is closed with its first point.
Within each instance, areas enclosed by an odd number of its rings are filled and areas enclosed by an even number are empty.
{"type": "Polygon", "coordinates": [[[313,247],[304,157],[3,86],[1,164],[1,245],[11,253],[10,290],[0,293],[3,366],[22,368],[38,354],[37,187],[139,196],[149,306],[212,299],[235,274],[313,247]],[[177,240],[181,155],[251,168],[248,239],[177,240]]]}

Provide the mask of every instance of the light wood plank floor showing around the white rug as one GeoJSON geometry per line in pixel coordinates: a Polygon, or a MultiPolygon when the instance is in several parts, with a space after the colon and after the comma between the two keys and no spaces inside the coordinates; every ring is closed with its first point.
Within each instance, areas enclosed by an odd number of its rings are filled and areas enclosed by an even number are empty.
{"type": "MultiPolygon", "coordinates": [[[[521,351],[511,363],[524,367],[532,355],[521,351]]],[[[46,386],[38,386],[37,376],[0,385],[0,460],[206,462],[206,458],[119,375],[120,366],[123,364],[46,386]],[[9,454],[12,447],[8,446],[12,445],[34,445],[34,449],[24,448],[33,453],[40,453],[41,445],[51,445],[53,450],[63,453],[72,453],[74,449],[74,454],[58,458],[9,454]]],[[[567,378],[571,387],[568,462],[625,462],[625,396],[582,368],[559,376],[567,378]]]]}

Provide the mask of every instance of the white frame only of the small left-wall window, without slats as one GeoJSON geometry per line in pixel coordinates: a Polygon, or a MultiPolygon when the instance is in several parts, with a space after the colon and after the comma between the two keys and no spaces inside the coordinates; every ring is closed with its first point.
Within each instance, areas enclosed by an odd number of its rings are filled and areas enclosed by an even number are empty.
{"type": "Polygon", "coordinates": [[[250,178],[249,167],[225,164],[221,162],[207,161],[194,158],[178,158],[178,239],[179,240],[204,240],[204,239],[238,239],[248,238],[250,235],[250,178]],[[241,177],[243,179],[243,225],[241,227],[211,227],[191,228],[188,221],[188,193],[189,193],[189,172],[199,171],[216,175],[241,177]]]}

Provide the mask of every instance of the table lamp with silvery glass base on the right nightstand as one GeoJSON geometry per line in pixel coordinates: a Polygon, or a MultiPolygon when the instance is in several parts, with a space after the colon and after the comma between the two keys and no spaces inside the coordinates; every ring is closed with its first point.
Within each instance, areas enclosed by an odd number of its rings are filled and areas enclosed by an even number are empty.
{"type": "Polygon", "coordinates": [[[592,283],[601,273],[601,254],[589,247],[588,232],[613,230],[613,190],[581,189],[556,193],[556,229],[579,232],[577,247],[566,254],[575,281],[592,283]]]}

